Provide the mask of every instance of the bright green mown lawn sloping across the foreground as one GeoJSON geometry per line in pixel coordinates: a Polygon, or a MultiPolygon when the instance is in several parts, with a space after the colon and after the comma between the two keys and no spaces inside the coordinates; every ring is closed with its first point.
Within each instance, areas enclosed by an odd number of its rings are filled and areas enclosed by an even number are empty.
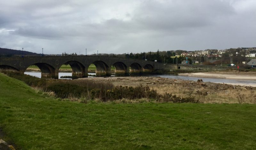
{"type": "Polygon", "coordinates": [[[83,104],[3,74],[0,85],[0,128],[16,149],[255,148],[256,105],[83,104]]]}

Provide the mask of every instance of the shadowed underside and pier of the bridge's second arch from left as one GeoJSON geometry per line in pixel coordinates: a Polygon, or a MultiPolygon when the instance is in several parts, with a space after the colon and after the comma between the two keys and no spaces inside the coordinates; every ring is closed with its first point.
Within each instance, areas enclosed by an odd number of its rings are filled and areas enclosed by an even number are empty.
{"type": "MultiPolygon", "coordinates": [[[[56,74],[56,69],[47,63],[34,63],[31,65],[36,65],[41,70],[41,78],[57,78],[58,79],[58,71],[56,74]]],[[[28,65],[26,69],[31,66],[28,65]]]]}

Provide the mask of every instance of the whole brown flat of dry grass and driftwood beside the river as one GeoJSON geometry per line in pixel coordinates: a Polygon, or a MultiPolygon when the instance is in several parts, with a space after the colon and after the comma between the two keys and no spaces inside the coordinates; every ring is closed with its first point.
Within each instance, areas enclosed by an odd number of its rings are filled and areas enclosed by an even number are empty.
{"type": "Polygon", "coordinates": [[[148,85],[163,95],[169,93],[179,97],[195,97],[202,103],[249,103],[256,104],[256,87],[229,84],[194,82],[161,77],[109,77],[80,79],[95,82],[110,82],[114,85],[148,85]],[[235,87],[235,88],[234,88],[235,87]],[[239,96],[239,95],[240,96],[239,96]],[[242,99],[242,100],[241,100],[242,99]]]}

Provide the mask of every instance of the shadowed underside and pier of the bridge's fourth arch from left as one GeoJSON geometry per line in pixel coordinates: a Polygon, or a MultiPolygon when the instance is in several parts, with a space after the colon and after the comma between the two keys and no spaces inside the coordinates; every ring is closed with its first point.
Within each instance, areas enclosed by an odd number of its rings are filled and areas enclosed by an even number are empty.
{"type": "Polygon", "coordinates": [[[110,67],[104,61],[96,60],[90,64],[95,65],[96,76],[110,76],[111,75],[110,67]]]}

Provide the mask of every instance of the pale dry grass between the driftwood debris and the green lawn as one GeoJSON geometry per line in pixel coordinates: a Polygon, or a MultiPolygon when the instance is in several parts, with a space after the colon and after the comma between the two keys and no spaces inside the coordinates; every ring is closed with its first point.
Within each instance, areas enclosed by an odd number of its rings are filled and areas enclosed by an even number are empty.
{"type": "Polygon", "coordinates": [[[256,91],[251,89],[235,88],[226,90],[210,90],[207,87],[186,87],[173,83],[153,87],[159,94],[170,93],[180,97],[192,96],[202,103],[248,103],[256,104],[256,91]]]}

